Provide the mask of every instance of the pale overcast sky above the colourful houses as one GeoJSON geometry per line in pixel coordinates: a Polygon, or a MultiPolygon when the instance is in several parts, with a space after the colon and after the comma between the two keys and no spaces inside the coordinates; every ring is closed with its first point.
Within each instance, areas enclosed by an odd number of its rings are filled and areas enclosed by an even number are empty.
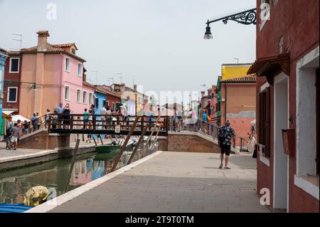
{"type": "Polygon", "coordinates": [[[36,46],[36,32],[48,30],[50,43],[76,43],[92,83],[97,70],[99,84],[120,83],[122,73],[144,92],[200,93],[217,83],[221,64],[255,61],[255,26],[218,21],[204,40],[206,21],[254,7],[255,0],[0,0],[0,47],[20,48],[13,33],[23,35],[23,48],[36,46]]]}

